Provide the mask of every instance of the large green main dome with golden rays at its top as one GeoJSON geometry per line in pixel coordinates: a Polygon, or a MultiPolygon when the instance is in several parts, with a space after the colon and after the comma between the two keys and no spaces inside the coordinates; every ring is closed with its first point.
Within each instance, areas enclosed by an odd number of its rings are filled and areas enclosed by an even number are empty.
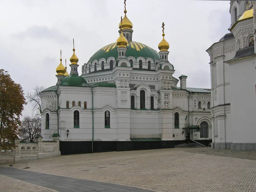
{"type": "MultiPolygon", "coordinates": [[[[116,43],[102,47],[89,59],[88,62],[92,62],[94,59],[99,61],[100,58],[105,58],[107,60],[109,57],[114,57],[116,59],[118,57],[116,47],[116,43]]],[[[160,55],[156,50],[135,41],[128,41],[126,57],[129,56],[133,56],[136,59],[138,57],[143,57],[145,59],[152,58],[153,60],[160,60],[160,55]]]]}

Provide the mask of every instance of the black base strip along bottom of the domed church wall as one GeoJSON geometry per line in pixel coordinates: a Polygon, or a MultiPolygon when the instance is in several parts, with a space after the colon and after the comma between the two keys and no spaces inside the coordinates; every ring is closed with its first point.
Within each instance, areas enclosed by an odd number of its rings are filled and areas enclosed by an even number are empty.
{"type": "MultiPolygon", "coordinates": [[[[185,141],[94,141],[93,152],[174,148],[185,141]]],[[[61,155],[92,153],[91,141],[60,141],[61,155]]]]}

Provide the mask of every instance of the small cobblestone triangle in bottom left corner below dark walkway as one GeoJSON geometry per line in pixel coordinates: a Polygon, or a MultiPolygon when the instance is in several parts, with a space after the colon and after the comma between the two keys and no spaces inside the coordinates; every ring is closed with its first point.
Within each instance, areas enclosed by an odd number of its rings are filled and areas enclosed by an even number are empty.
{"type": "MultiPolygon", "coordinates": [[[[1,173],[1,172],[0,172],[1,173]]],[[[0,192],[57,192],[42,186],[0,175],[0,192]]]]}

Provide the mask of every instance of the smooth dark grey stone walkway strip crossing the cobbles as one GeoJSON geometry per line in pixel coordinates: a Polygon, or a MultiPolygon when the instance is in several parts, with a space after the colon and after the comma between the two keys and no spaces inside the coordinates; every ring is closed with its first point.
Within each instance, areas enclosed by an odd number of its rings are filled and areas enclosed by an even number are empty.
{"type": "MultiPolygon", "coordinates": [[[[0,167],[0,174],[8,177],[32,183],[37,186],[54,189],[58,192],[153,192],[145,189],[138,189],[130,186],[121,186],[112,183],[103,183],[91,180],[76,179],[58,175],[50,175],[11,167],[0,167]]],[[[9,182],[11,183],[11,182],[9,182]]],[[[2,185],[1,185],[2,186],[2,185]]],[[[1,187],[0,186],[0,187],[1,187]]],[[[26,186],[23,186],[26,187],[26,186]]],[[[28,187],[28,186],[27,186],[28,187]]],[[[35,189],[33,189],[35,190],[35,189]]],[[[36,189],[42,192],[50,192],[47,189],[36,189]]],[[[7,192],[6,189],[5,192],[7,192]]],[[[29,191],[26,189],[26,191],[29,191]]]]}

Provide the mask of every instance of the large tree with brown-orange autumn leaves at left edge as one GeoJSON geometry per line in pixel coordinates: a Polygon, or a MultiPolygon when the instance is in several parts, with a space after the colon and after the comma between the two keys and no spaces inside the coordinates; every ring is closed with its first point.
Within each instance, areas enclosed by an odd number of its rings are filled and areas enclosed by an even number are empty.
{"type": "Polygon", "coordinates": [[[12,80],[8,71],[0,69],[0,147],[3,149],[15,148],[24,104],[20,84],[12,80]]]}

